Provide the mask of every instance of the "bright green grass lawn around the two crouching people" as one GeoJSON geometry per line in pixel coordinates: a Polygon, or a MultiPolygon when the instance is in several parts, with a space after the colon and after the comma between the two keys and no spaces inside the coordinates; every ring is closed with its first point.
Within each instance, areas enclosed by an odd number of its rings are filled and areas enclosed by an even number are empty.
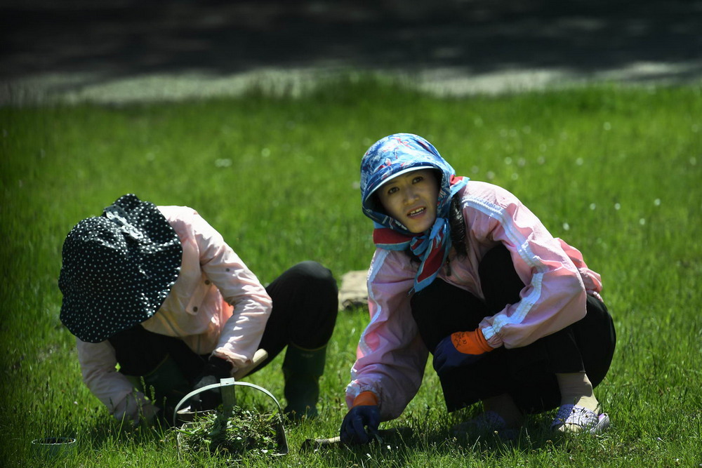
{"type": "MultiPolygon", "coordinates": [[[[0,109],[0,366],[5,466],[37,466],[30,442],[76,436],[58,464],[183,466],[170,432],[114,422],[81,382],[58,319],[61,246],[121,194],[192,206],[264,283],[319,260],[367,267],[371,222],[358,167],[378,138],[425,136],[462,175],[510,189],[602,274],[618,348],[597,396],[613,427],[555,439],[551,415],[517,443],[459,443],[430,370],[402,417],[406,443],[301,453],[338,432],[366,312],[340,314],[321,416],[287,427],[291,453],[242,466],[698,467],[702,464],[702,88],[619,88],[439,99],[378,80],[302,98],[0,109]]],[[[249,380],[282,399],[277,359],[249,380]]],[[[218,466],[203,456],[200,466],[218,466]]]]}

